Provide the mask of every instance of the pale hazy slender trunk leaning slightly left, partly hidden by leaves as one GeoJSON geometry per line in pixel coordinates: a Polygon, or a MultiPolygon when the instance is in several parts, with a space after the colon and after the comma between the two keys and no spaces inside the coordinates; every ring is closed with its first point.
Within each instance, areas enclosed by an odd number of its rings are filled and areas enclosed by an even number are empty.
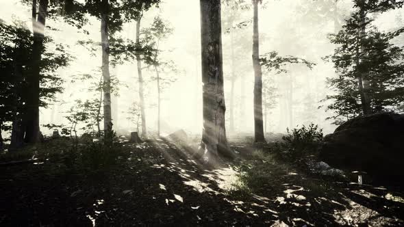
{"type": "MultiPolygon", "coordinates": [[[[138,18],[136,22],[136,43],[140,41],[140,21],[142,17],[138,18]]],[[[144,96],[143,96],[143,77],[142,77],[142,59],[139,54],[136,55],[136,62],[138,63],[138,81],[139,81],[139,98],[140,98],[140,115],[142,116],[142,137],[147,137],[146,129],[146,114],[144,114],[144,96]]]]}

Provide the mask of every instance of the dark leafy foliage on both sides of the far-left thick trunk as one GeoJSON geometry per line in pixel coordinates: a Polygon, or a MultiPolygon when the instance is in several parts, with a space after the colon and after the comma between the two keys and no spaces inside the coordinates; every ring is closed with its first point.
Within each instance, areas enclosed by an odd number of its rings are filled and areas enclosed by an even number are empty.
{"type": "MultiPolygon", "coordinates": [[[[29,83],[32,73],[37,68],[31,64],[34,47],[32,45],[34,37],[23,23],[16,22],[15,25],[5,25],[0,23],[0,68],[2,78],[0,86],[0,121],[12,122],[12,126],[5,126],[3,130],[12,129],[10,148],[19,148],[24,144],[26,135],[26,116],[32,111],[28,105],[31,98],[29,93],[29,83]]],[[[40,66],[38,106],[45,107],[53,101],[54,94],[61,92],[61,83],[57,70],[67,66],[70,56],[66,54],[64,46],[54,44],[49,37],[42,40],[40,66]]],[[[26,140],[25,142],[31,142],[26,140]]]]}

